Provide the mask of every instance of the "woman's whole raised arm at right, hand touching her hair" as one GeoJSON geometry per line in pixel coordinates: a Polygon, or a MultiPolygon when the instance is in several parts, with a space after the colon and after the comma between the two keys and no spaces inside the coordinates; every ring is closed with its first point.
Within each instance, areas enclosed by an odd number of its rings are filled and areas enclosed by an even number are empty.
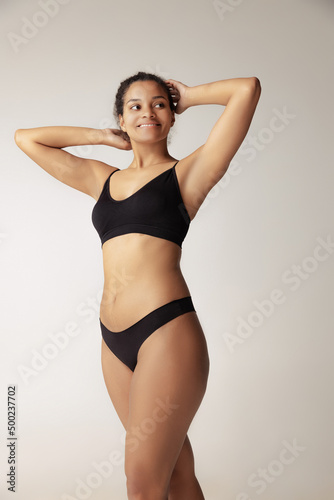
{"type": "Polygon", "coordinates": [[[205,144],[183,161],[184,198],[196,212],[242,144],[260,98],[261,85],[256,77],[220,80],[195,87],[171,79],[166,83],[177,104],[176,113],[203,104],[225,106],[205,144]]]}

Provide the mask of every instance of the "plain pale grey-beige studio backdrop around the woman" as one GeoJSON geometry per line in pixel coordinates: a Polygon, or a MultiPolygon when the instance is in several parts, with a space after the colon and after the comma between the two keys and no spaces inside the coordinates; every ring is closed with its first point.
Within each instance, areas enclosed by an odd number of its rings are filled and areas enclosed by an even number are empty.
{"type": "MultiPolygon", "coordinates": [[[[1,2],[2,499],[126,499],[124,431],[100,362],[94,200],[32,162],[14,132],[114,127],[116,89],[138,70],[189,86],[262,85],[247,137],[183,245],[211,359],[189,431],[205,497],[334,497],[333,11],[320,0],[1,2]]],[[[177,116],[171,154],[203,144],[222,110],[177,116]]],[[[68,150],[119,168],[132,158],[68,150]]]]}

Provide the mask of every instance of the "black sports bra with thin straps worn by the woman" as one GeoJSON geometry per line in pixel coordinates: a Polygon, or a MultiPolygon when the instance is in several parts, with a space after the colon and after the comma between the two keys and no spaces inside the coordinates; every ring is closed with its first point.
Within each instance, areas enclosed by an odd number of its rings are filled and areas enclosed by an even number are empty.
{"type": "Polygon", "coordinates": [[[114,200],[109,190],[110,177],[120,169],[109,175],[92,211],[101,246],[115,236],[143,233],[182,247],[190,217],[175,172],[177,163],[123,200],[114,200]]]}

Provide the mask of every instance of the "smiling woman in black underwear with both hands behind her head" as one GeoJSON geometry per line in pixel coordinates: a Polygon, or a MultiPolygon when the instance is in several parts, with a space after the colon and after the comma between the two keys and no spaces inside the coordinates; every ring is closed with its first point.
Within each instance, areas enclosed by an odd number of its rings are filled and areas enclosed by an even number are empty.
{"type": "Polygon", "coordinates": [[[256,77],[188,87],[140,72],[118,89],[120,130],[57,126],[15,134],[44,170],[96,200],[105,278],[102,368],[126,429],[130,500],[204,498],[187,431],[206,390],[209,358],[180,270],[181,247],[243,142],[260,93],[256,77]],[[167,149],[175,113],[200,104],[226,107],[205,144],[177,161],[167,149]],[[87,144],[132,149],[132,162],[119,170],[61,149],[87,144]]]}

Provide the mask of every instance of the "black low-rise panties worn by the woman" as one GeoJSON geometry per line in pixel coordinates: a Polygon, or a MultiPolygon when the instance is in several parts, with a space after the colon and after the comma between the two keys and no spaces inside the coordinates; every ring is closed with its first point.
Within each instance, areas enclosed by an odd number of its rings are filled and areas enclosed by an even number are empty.
{"type": "Polygon", "coordinates": [[[100,319],[102,337],[109,349],[134,371],[142,343],[158,328],[186,312],[195,311],[191,297],[172,300],[151,311],[129,328],[111,332],[100,319]]]}

